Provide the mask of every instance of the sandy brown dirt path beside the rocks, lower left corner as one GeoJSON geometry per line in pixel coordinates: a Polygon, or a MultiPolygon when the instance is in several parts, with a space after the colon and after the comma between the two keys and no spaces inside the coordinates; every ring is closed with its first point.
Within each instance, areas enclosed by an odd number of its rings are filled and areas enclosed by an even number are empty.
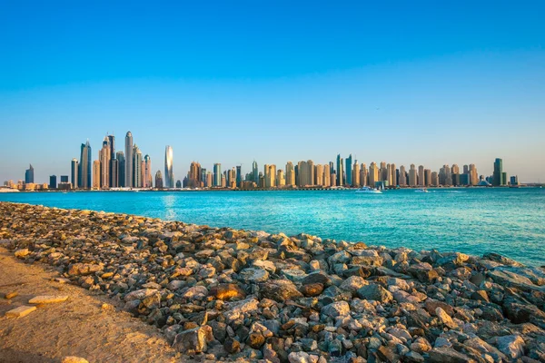
{"type": "Polygon", "coordinates": [[[56,271],[44,265],[27,265],[0,248],[0,362],[60,362],[66,356],[90,362],[182,360],[154,327],[128,313],[103,309],[103,303],[112,301],[52,281],[55,277],[59,277],[56,271]],[[5,286],[18,282],[24,284],[5,286]],[[11,291],[19,295],[2,299],[11,291]],[[5,318],[7,310],[47,294],[69,298],[39,306],[24,318],[5,318]]]}

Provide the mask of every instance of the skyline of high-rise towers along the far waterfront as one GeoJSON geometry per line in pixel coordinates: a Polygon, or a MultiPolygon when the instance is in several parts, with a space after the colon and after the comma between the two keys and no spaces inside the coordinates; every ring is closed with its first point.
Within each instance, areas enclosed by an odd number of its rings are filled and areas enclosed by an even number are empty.
{"type": "Polygon", "coordinates": [[[243,175],[242,165],[222,171],[221,163],[214,163],[213,170],[207,171],[199,162],[191,162],[183,181],[174,183],[173,148],[166,146],[164,152],[164,173],[155,172],[152,178],[152,160],[149,155],[143,157],[142,152],[133,142],[133,134],[127,132],[124,139],[124,152],[115,152],[114,135],[104,137],[98,159],[92,161],[89,142],[82,143],[79,161],[71,163],[72,176],[60,177],[57,183],[55,175],[50,177],[49,184],[34,183],[34,168],[25,172],[25,182],[5,182],[8,187],[20,190],[44,189],[173,189],[173,188],[208,188],[208,189],[271,189],[271,188],[332,188],[370,186],[373,188],[391,187],[439,187],[439,186],[504,186],[518,185],[517,176],[507,180],[503,172],[503,162],[496,159],[494,172],[489,177],[479,176],[475,164],[443,165],[439,172],[431,172],[423,165],[411,164],[407,170],[394,163],[352,161],[352,155],[343,159],[337,155],[335,162],[315,164],[312,160],[287,162],[285,167],[277,168],[274,164],[263,165],[260,172],[257,162],[253,162],[252,172],[243,175]]]}

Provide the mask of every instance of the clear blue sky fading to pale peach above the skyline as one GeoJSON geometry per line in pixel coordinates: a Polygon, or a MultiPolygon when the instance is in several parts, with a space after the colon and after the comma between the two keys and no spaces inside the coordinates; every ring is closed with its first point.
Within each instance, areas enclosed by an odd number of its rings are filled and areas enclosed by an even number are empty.
{"type": "Polygon", "coordinates": [[[255,159],[545,182],[545,2],[0,0],[0,183],[133,132],[174,177],[255,159]],[[114,4],[112,4],[114,3],[114,4]],[[375,4],[381,3],[381,4],[375,4]]]}

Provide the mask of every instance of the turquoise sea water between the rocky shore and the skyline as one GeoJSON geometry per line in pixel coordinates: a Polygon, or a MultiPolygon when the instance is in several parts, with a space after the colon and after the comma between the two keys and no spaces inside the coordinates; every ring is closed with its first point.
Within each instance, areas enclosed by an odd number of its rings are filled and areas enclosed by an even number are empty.
{"type": "Polygon", "coordinates": [[[20,192],[0,193],[0,201],[288,235],[305,232],[414,250],[494,251],[545,265],[545,189],[430,191],[20,192]]]}

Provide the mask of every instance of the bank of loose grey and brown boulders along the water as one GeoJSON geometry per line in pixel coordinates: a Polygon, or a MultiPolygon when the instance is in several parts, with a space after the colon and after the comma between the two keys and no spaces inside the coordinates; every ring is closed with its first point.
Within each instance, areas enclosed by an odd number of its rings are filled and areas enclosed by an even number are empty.
{"type": "Polygon", "coordinates": [[[494,253],[8,202],[0,243],[122,302],[202,361],[545,361],[545,270],[494,253]]]}

